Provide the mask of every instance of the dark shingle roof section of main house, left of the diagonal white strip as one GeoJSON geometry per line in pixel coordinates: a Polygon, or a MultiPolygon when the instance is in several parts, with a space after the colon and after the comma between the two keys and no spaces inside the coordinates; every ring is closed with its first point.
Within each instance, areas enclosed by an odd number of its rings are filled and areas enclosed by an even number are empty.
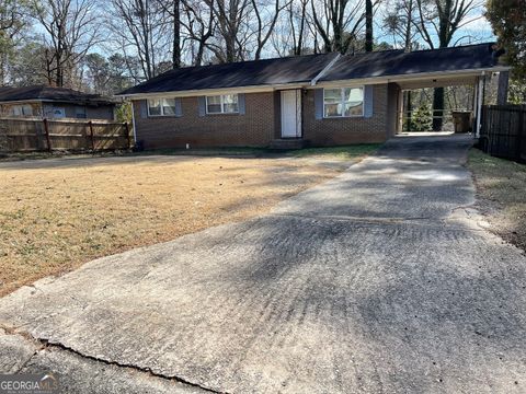
{"type": "Polygon", "coordinates": [[[150,79],[119,94],[308,82],[335,57],[318,54],[224,65],[184,67],[150,79]]]}

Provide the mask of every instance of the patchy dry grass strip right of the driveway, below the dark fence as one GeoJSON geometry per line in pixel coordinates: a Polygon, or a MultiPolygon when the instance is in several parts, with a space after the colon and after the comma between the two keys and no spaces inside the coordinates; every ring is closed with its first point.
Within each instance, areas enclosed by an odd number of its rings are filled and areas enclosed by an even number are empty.
{"type": "Polygon", "coordinates": [[[526,165],[472,149],[468,167],[477,186],[477,208],[490,230],[526,251],[526,165]]]}

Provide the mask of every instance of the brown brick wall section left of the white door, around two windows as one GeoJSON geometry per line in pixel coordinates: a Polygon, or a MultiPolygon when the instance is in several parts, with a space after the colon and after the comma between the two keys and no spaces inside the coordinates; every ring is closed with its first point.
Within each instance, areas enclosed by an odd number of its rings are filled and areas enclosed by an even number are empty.
{"type": "Polygon", "coordinates": [[[266,147],[274,139],[274,95],[247,93],[245,114],[199,116],[198,97],[181,99],[181,117],[141,118],[134,103],[137,140],[145,149],[191,147],[266,147]]]}

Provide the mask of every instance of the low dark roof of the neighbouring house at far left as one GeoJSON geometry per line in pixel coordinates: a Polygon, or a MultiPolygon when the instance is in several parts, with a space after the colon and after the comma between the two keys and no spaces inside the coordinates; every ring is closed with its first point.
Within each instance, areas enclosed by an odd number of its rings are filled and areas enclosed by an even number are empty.
{"type": "Polygon", "coordinates": [[[45,85],[23,88],[0,88],[0,102],[13,101],[56,101],[84,104],[113,104],[110,97],[99,94],[88,94],[66,88],[50,88],[45,85]]]}

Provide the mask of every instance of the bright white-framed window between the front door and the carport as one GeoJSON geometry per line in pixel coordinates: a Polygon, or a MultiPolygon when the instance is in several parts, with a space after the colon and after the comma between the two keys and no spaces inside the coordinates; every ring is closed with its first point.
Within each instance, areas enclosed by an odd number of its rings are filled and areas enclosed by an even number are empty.
{"type": "Polygon", "coordinates": [[[364,88],[323,89],[323,116],[364,115],[364,88]]]}

